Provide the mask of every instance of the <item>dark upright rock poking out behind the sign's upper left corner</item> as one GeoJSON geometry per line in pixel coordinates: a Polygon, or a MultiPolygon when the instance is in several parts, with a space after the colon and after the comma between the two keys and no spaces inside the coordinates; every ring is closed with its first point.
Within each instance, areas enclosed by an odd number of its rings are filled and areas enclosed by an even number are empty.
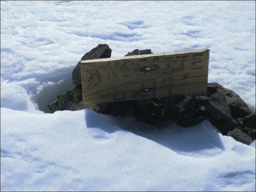
{"type": "MultiPolygon", "coordinates": [[[[111,49],[107,44],[99,44],[97,47],[93,48],[91,51],[86,53],[81,60],[89,59],[103,59],[111,57],[111,49]]],[[[81,80],[81,69],[80,61],[72,72],[72,80],[74,85],[82,85],[81,80]]]]}

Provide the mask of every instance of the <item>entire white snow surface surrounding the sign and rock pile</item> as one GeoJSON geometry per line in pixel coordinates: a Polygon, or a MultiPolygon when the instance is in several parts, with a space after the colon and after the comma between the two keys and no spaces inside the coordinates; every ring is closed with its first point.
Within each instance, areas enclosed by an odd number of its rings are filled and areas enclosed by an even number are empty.
{"type": "Polygon", "coordinates": [[[208,82],[255,111],[255,1],[1,1],[1,191],[255,191],[255,141],[208,121],[46,113],[99,43],[111,57],[209,48],[208,82]]]}

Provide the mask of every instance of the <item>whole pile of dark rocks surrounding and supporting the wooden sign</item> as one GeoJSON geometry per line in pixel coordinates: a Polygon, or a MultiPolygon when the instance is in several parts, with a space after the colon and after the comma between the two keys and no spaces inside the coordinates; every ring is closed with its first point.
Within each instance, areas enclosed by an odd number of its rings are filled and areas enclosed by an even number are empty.
{"type": "MultiPolygon", "coordinates": [[[[135,49],[125,56],[152,54],[150,49],[135,49]]],[[[86,53],[81,60],[109,58],[111,49],[99,44],[86,53]]],[[[53,110],[92,109],[98,113],[110,115],[134,115],[139,120],[160,127],[170,120],[177,121],[183,127],[196,125],[209,120],[223,135],[233,137],[244,144],[255,139],[255,113],[233,91],[218,83],[208,83],[207,93],[176,97],[152,98],[148,106],[138,106],[137,100],[101,104],[83,104],[80,62],[72,72],[71,90],[59,95],[48,107],[53,110]]]]}

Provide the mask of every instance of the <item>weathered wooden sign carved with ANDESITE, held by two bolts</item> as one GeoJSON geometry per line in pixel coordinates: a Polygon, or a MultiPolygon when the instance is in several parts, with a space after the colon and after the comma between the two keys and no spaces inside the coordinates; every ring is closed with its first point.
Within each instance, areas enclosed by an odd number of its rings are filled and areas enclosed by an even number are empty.
{"type": "Polygon", "coordinates": [[[81,61],[83,102],[207,92],[209,49],[81,61]]]}

